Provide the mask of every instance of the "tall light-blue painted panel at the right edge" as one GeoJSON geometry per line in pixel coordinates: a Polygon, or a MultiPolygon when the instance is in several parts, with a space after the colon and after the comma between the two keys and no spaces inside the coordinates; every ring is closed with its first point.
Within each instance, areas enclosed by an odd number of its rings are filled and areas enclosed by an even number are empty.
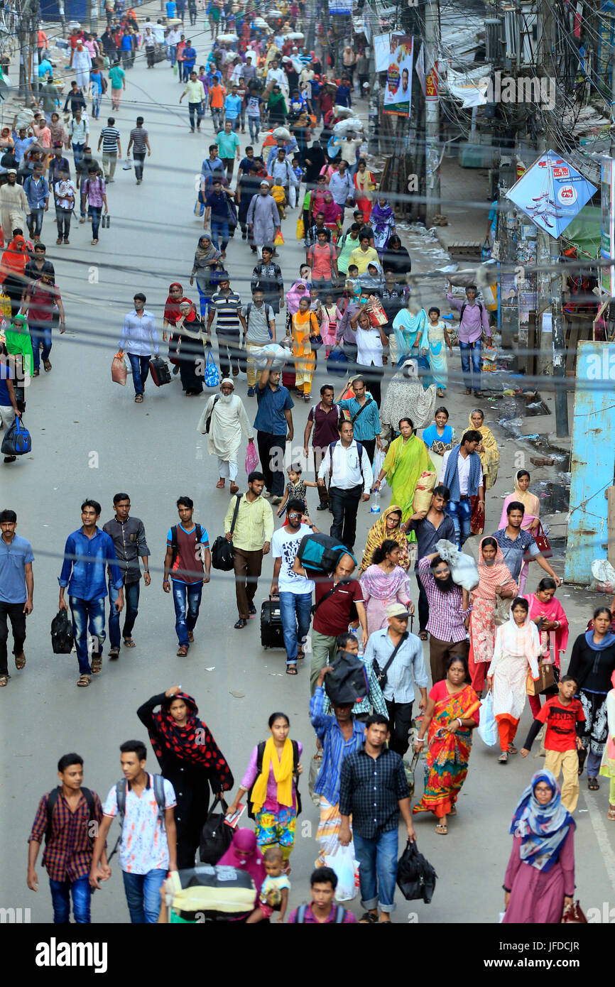
{"type": "Polygon", "coordinates": [[[571,473],[565,579],[586,585],[593,560],[606,559],[605,491],[615,473],[615,343],[578,343],[571,473]]]}

